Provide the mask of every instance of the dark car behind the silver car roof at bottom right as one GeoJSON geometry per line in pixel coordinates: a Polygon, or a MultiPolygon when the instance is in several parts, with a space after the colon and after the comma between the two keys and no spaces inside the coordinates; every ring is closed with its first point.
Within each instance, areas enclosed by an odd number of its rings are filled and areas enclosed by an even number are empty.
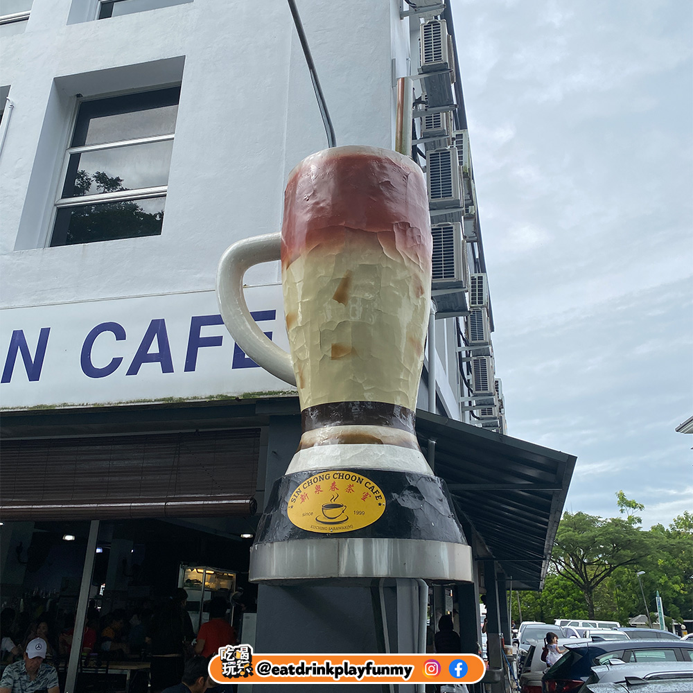
{"type": "Polygon", "coordinates": [[[683,640],[612,640],[570,644],[541,679],[542,693],[577,693],[590,676],[592,667],[610,660],[630,662],[693,663],[693,642],[683,640]]]}

